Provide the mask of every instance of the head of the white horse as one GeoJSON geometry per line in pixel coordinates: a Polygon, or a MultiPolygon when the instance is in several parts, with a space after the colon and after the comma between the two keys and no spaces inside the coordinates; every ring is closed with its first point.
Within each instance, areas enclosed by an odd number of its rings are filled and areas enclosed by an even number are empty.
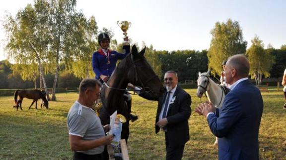
{"type": "Polygon", "coordinates": [[[198,89],[197,89],[197,96],[201,98],[203,94],[209,89],[209,77],[210,77],[210,70],[205,73],[199,72],[199,78],[197,80],[198,89]]]}

